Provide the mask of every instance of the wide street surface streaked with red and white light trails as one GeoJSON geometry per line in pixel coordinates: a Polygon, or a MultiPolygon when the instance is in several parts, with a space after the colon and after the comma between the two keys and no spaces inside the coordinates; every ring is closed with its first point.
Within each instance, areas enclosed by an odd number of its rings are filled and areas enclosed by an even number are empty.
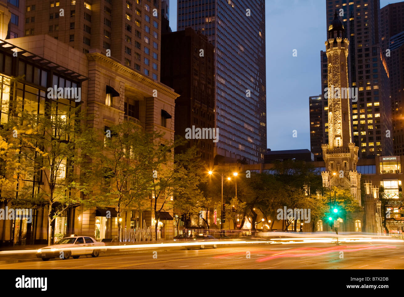
{"type": "MultiPolygon", "coordinates": [[[[7,257],[7,256],[6,256],[7,257]]],[[[0,262],[0,269],[402,269],[402,242],[242,244],[79,259],[0,262]]],[[[2,257],[3,258],[3,257],[2,257]]],[[[1,260],[1,259],[0,259],[1,260]]]]}

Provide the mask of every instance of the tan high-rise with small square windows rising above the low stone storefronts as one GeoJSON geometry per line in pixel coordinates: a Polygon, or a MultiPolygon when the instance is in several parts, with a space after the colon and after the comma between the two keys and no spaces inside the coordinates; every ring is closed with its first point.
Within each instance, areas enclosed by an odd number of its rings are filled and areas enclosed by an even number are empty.
{"type": "Polygon", "coordinates": [[[25,5],[25,36],[48,34],[83,53],[110,50],[126,67],[160,80],[160,0],[114,5],[112,0],[26,0],[25,5]]]}

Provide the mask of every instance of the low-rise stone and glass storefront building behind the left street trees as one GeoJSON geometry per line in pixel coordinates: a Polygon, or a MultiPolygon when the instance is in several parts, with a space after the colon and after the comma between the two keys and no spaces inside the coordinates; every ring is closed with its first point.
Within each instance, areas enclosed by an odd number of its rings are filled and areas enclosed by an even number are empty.
{"type": "MultiPolygon", "coordinates": [[[[94,49],[84,54],[71,46],[48,35],[14,38],[1,48],[2,66],[2,112],[1,122],[9,117],[7,106],[13,102],[24,103],[24,108],[40,112],[47,96],[47,88],[80,87],[80,106],[93,115],[93,128],[102,132],[105,126],[123,121],[135,122],[145,131],[164,133],[162,144],[174,140],[175,99],[178,95],[168,86],[140,74],[135,69],[126,67],[116,59],[94,49]],[[13,42],[13,44],[11,44],[13,42]],[[58,51],[53,51],[58,48],[58,51]],[[25,53],[13,57],[14,50],[25,53]],[[14,62],[12,62],[14,61],[14,62]],[[12,92],[11,76],[23,76],[17,92],[12,92]],[[20,90],[21,89],[21,90],[20,90]],[[157,91],[158,97],[153,93],[157,91]],[[169,115],[169,116],[167,116],[169,115]],[[164,121],[162,118],[165,116],[164,121]]],[[[78,106],[74,99],[58,99],[53,104],[72,104],[78,106]]],[[[100,135],[100,136],[101,136],[100,135]]],[[[101,136],[102,137],[102,136],[101,136]]],[[[27,180],[32,183],[33,191],[46,191],[40,187],[42,181],[27,180]],[[38,190],[35,190],[38,189],[38,190]]],[[[101,187],[102,183],[100,183],[101,187]]],[[[101,188],[98,190],[102,190],[101,188]]],[[[151,200],[145,197],[145,203],[151,200]]],[[[2,205],[4,209],[7,204],[2,205]]],[[[97,240],[112,240],[118,237],[118,220],[114,206],[107,208],[111,216],[106,215],[105,208],[97,206],[69,207],[60,217],[53,221],[52,241],[60,236],[82,234],[97,240]]],[[[173,237],[173,212],[166,209],[160,216],[158,234],[154,234],[154,211],[124,209],[122,212],[121,240],[134,240],[136,234],[144,232],[143,239],[171,239],[173,237]],[[137,232],[136,230],[139,230],[137,232]],[[136,233],[137,232],[137,233],[136,233]]],[[[13,221],[0,220],[0,238],[2,244],[42,244],[47,242],[48,209],[47,205],[37,205],[31,223],[16,218],[13,221]]]]}

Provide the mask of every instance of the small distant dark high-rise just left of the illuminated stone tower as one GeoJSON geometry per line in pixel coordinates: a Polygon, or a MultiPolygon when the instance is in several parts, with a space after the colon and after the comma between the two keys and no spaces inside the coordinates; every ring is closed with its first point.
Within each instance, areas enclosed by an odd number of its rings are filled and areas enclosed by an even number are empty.
{"type": "Polygon", "coordinates": [[[321,145],[328,140],[328,128],[324,127],[324,123],[328,125],[328,104],[324,104],[327,99],[321,95],[309,97],[309,117],[310,117],[310,150],[314,155],[314,161],[322,161],[321,145]]]}

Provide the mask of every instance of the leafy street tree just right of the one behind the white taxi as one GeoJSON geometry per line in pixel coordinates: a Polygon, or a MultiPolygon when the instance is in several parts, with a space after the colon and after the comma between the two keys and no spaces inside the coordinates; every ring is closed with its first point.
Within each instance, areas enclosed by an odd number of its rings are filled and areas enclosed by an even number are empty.
{"type": "Polygon", "coordinates": [[[145,210],[147,185],[152,176],[147,171],[148,145],[146,133],[137,124],[123,121],[105,131],[103,150],[93,157],[97,179],[102,181],[95,196],[99,206],[114,205],[121,238],[121,214],[128,207],[145,210]]]}

